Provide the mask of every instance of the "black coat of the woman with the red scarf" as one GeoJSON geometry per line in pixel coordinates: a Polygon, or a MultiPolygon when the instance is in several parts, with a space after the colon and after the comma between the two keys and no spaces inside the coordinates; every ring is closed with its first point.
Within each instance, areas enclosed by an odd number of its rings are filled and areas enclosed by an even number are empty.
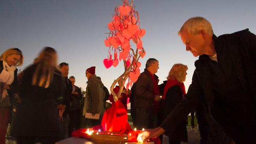
{"type": "MultiPolygon", "coordinates": [[[[182,91],[178,85],[173,85],[167,90],[165,99],[161,100],[161,109],[159,111],[161,122],[163,122],[169,113],[173,111],[174,107],[182,101],[182,97],[182,91]]],[[[176,130],[173,135],[170,135],[168,132],[165,133],[165,135],[172,139],[178,139],[187,142],[187,118],[180,121],[181,123],[179,126],[176,126],[176,130]]]]}

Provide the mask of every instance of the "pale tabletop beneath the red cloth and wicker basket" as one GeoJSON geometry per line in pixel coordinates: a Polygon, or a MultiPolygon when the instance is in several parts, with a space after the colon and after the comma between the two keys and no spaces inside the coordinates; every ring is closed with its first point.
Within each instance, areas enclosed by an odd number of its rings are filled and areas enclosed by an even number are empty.
{"type": "MultiPolygon", "coordinates": [[[[95,144],[86,138],[70,137],[65,140],[56,142],[55,144],[95,144]]],[[[126,142],[125,144],[139,144],[137,142],[126,142]]],[[[154,142],[144,142],[143,144],[154,144],[154,142]]]]}

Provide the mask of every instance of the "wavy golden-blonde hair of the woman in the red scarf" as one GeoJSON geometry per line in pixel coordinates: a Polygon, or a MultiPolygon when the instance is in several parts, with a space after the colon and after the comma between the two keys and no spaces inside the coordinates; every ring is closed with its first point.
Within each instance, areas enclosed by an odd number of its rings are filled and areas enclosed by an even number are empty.
{"type": "Polygon", "coordinates": [[[167,76],[167,80],[177,79],[180,83],[184,82],[186,80],[186,74],[184,74],[184,72],[186,72],[187,69],[187,66],[181,63],[174,64],[167,76]]]}

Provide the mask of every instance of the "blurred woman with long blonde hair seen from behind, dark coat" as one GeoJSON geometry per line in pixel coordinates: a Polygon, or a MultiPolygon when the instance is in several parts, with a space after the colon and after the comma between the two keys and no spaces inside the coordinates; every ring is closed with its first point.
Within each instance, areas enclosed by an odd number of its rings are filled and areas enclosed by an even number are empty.
{"type": "Polygon", "coordinates": [[[13,125],[18,144],[54,144],[60,140],[60,105],[62,76],[57,68],[57,54],[45,47],[35,64],[24,70],[21,80],[21,103],[13,125]]]}

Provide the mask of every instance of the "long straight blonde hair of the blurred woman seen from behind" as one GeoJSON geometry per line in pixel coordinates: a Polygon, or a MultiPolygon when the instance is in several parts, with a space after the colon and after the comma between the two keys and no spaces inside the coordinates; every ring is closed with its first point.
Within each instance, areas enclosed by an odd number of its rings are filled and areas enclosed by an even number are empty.
{"type": "Polygon", "coordinates": [[[47,88],[57,69],[57,52],[54,48],[45,47],[36,61],[37,67],[32,78],[32,85],[47,88]]]}

